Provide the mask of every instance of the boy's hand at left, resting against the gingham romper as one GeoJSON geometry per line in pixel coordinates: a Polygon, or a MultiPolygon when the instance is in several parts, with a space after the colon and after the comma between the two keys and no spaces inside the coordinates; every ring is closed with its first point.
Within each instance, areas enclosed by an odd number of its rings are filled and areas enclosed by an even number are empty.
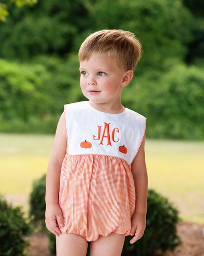
{"type": "Polygon", "coordinates": [[[48,230],[54,235],[61,234],[59,227],[63,226],[63,218],[59,205],[54,204],[47,206],[45,216],[45,223],[48,230]]]}

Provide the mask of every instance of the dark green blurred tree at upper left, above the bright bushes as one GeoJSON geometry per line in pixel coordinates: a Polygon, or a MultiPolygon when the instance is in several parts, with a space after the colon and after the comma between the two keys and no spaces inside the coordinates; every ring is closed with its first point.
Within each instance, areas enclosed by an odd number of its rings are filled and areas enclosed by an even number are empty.
{"type": "Polygon", "coordinates": [[[41,0],[26,8],[13,7],[11,13],[6,24],[0,24],[0,57],[7,59],[64,57],[71,52],[75,36],[87,27],[83,0],[41,0]]]}

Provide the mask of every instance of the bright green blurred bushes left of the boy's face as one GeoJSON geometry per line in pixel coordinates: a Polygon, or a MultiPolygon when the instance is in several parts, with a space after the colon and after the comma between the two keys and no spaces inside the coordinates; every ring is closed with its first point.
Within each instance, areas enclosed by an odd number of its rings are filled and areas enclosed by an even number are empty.
{"type": "Polygon", "coordinates": [[[0,59],[0,132],[54,133],[64,104],[83,99],[77,55],[31,64],[0,59]]]}

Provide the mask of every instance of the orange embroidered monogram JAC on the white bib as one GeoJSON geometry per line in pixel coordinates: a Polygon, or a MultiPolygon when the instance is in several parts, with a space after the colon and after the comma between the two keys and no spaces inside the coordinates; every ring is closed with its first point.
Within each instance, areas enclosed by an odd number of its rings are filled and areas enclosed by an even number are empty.
{"type": "Polygon", "coordinates": [[[103,122],[103,123],[104,123],[104,126],[103,126],[102,136],[101,136],[102,126],[97,126],[98,127],[98,137],[96,138],[96,135],[93,135],[93,139],[100,140],[99,145],[103,145],[103,139],[107,138],[106,145],[112,146],[111,140],[112,140],[112,142],[115,142],[115,143],[117,143],[119,141],[119,138],[118,139],[115,138],[115,133],[116,132],[120,133],[119,129],[117,127],[113,128],[113,130],[111,132],[111,137],[110,137],[110,128],[109,128],[110,123],[105,123],[105,122],[103,122]]]}

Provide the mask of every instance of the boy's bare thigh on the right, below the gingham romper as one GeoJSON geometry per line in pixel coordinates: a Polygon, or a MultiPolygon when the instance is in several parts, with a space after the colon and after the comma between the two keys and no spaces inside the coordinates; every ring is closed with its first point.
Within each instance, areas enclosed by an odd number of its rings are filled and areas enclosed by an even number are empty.
{"type": "Polygon", "coordinates": [[[125,234],[110,233],[91,241],[91,256],[121,256],[125,242],[125,234]]]}

